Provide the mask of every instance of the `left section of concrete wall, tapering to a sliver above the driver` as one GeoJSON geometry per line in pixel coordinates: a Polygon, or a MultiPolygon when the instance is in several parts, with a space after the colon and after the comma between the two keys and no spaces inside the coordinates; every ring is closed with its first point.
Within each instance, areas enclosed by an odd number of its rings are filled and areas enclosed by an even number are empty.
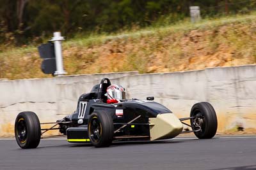
{"type": "Polygon", "coordinates": [[[122,78],[138,71],[0,81],[0,137],[13,136],[15,117],[34,111],[40,122],[55,122],[76,110],[78,97],[104,77],[122,78]]]}

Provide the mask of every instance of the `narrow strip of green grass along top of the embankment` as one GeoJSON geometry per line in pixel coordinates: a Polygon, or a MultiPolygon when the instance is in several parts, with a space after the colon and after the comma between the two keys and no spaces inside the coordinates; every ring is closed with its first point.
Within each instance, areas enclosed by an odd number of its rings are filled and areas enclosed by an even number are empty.
{"type": "Polygon", "coordinates": [[[250,15],[232,15],[221,18],[207,18],[202,19],[200,22],[195,24],[191,23],[189,18],[177,22],[174,25],[164,25],[161,27],[147,27],[145,29],[140,29],[138,31],[123,31],[116,34],[92,34],[89,36],[83,36],[80,34],[77,38],[69,39],[63,45],[80,45],[87,46],[92,44],[100,45],[106,43],[106,41],[111,41],[115,39],[124,39],[124,38],[140,38],[141,36],[150,36],[152,34],[169,34],[170,32],[188,32],[193,29],[212,29],[214,27],[219,27],[221,25],[226,25],[230,23],[248,23],[252,20],[256,20],[256,12],[251,13],[250,15]]]}

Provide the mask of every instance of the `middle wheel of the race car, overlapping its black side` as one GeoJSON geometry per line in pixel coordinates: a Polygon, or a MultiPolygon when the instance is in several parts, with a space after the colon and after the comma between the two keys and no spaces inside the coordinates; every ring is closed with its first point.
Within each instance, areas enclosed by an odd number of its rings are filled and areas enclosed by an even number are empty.
{"type": "Polygon", "coordinates": [[[88,120],[88,136],[93,146],[111,145],[114,135],[113,119],[106,111],[94,111],[88,120]]]}

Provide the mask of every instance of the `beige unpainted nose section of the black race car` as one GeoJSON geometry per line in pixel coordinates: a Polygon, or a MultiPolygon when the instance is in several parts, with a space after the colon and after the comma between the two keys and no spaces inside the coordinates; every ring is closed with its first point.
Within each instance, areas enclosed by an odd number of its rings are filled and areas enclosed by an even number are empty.
{"type": "Polygon", "coordinates": [[[183,129],[179,118],[173,113],[157,115],[156,118],[149,118],[150,141],[156,139],[170,139],[179,135],[183,129]]]}

